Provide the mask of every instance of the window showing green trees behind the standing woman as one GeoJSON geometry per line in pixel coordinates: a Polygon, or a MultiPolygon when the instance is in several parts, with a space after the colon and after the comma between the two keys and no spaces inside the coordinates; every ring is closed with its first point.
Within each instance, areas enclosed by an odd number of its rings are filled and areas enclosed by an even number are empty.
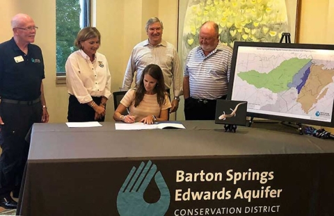
{"type": "Polygon", "coordinates": [[[65,63],[77,48],[74,40],[90,25],[90,0],[56,0],[56,72],[65,76],[65,63]]]}

